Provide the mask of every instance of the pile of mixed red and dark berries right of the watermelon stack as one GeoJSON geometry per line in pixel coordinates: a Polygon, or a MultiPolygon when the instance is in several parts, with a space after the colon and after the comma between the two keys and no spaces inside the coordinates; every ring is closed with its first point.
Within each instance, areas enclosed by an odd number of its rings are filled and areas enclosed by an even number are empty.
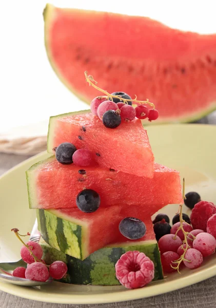
{"type": "MultiPolygon", "coordinates": [[[[195,196],[200,200],[197,193],[188,194],[192,199],[195,196]]],[[[197,268],[204,257],[215,252],[216,206],[207,201],[199,201],[192,206],[188,202],[188,205],[192,212],[190,218],[183,214],[184,232],[180,228],[179,214],[173,217],[172,227],[165,214],[157,215],[153,221],[164,273],[179,270],[183,265],[191,269],[197,268]]]]}

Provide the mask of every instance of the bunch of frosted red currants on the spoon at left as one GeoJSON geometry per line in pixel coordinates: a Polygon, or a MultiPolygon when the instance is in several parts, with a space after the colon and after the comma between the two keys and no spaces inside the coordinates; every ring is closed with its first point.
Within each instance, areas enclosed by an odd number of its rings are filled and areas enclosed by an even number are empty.
{"type": "MultiPolygon", "coordinates": [[[[16,236],[21,240],[18,229],[12,229],[16,236]]],[[[21,240],[22,241],[22,240],[21,240]]],[[[21,257],[27,263],[27,268],[19,266],[13,271],[14,277],[26,278],[35,281],[47,281],[49,277],[59,280],[66,276],[68,268],[63,261],[54,261],[51,265],[47,265],[42,260],[43,249],[40,244],[28,241],[21,248],[21,257]]]]}

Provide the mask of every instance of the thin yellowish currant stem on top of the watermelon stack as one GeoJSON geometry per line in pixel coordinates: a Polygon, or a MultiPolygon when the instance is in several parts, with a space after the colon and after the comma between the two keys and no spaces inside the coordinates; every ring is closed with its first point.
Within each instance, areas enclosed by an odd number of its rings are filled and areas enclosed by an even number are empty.
{"type": "Polygon", "coordinates": [[[128,104],[128,102],[132,102],[136,105],[140,105],[140,104],[148,104],[151,107],[153,107],[153,109],[155,109],[155,106],[153,103],[150,103],[148,99],[146,99],[146,101],[138,101],[136,100],[136,95],[135,95],[135,99],[134,100],[128,100],[128,99],[123,99],[121,96],[119,95],[112,95],[109,92],[107,92],[106,90],[103,90],[99,87],[96,86],[97,82],[93,79],[92,75],[88,75],[88,72],[85,71],[85,77],[86,77],[86,81],[89,83],[89,86],[94,87],[95,89],[99,90],[100,92],[104,93],[106,96],[100,96],[98,98],[110,98],[112,101],[113,99],[120,99],[120,101],[123,101],[125,104],[128,104]]]}

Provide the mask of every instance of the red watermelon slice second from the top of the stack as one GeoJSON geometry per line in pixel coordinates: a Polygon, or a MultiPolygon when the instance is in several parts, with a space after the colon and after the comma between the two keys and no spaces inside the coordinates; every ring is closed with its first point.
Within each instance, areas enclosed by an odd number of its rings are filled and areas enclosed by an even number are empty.
{"type": "Polygon", "coordinates": [[[140,205],[153,215],[161,207],[182,202],[179,172],[154,164],[153,179],[137,177],[101,167],[62,165],[51,157],[27,171],[30,208],[76,208],[76,196],[85,188],[101,197],[100,207],[114,204],[140,205]]]}

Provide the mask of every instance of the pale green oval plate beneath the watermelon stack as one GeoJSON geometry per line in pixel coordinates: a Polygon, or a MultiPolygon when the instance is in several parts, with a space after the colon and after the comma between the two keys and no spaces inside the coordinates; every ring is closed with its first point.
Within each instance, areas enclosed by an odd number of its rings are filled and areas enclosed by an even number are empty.
{"type": "MultiPolygon", "coordinates": [[[[216,204],[216,126],[198,124],[160,125],[148,127],[155,161],[180,170],[186,180],[186,192],[198,191],[202,200],[216,204]]],[[[0,262],[19,259],[21,245],[11,228],[22,233],[31,231],[35,211],[28,209],[25,171],[48,155],[41,153],[8,171],[0,179],[0,262]]],[[[161,212],[172,218],[178,205],[168,205],[161,212]]],[[[184,213],[190,210],[184,207],[184,213]]],[[[41,287],[22,287],[0,282],[0,290],[28,299],[65,304],[108,303],[139,299],[170,292],[216,275],[216,254],[205,258],[202,266],[184,268],[181,275],[170,274],[136,290],[123,286],[69,285],[60,282],[41,287]]]]}

